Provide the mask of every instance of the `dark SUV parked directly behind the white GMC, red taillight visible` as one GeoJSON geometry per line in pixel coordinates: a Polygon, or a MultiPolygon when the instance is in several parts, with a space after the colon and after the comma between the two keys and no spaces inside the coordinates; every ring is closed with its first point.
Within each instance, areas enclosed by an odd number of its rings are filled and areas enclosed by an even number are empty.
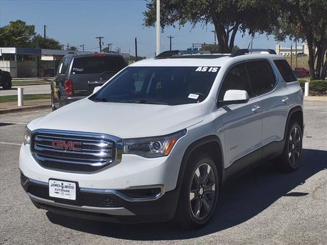
{"type": "Polygon", "coordinates": [[[127,66],[118,54],[65,55],[51,84],[52,110],[83,99],[127,66]]]}

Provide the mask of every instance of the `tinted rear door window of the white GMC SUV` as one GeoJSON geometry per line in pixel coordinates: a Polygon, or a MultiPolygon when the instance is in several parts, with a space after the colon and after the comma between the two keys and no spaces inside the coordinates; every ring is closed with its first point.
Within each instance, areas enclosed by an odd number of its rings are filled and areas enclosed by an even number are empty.
{"type": "Polygon", "coordinates": [[[255,95],[264,94],[275,86],[275,74],[267,60],[250,61],[246,63],[246,67],[255,95]]]}

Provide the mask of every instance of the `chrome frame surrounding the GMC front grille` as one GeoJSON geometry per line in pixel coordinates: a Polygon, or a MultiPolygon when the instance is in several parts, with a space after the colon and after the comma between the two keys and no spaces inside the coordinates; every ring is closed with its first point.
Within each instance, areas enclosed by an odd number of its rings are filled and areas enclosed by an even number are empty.
{"type": "Polygon", "coordinates": [[[68,131],[68,130],[54,130],[54,129],[36,129],[31,132],[31,144],[30,144],[30,151],[35,159],[35,161],[43,168],[45,169],[50,169],[53,171],[62,171],[62,172],[67,172],[67,173],[76,173],[76,174],[95,174],[100,171],[103,171],[105,169],[108,169],[110,167],[113,167],[117,164],[119,164],[122,161],[122,155],[123,155],[123,139],[109,135],[109,134],[103,134],[103,133],[91,133],[91,132],[80,132],[80,131],[68,131]],[[39,133],[45,133],[45,134],[54,134],[54,135],[66,135],[66,136],[84,136],[88,138],[103,138],[107,140],[111,140],[115,142],[115,158],[114,161],[109,163],[108,166],[105,166],[101,169],[98,169],[96,171],[74,171],[74,170],[65,170],[65,169],[57,169],[57,168],[49,168],[49,167],[44,167],[41,164],[38,163],[36,156],[34,155],[32,149],[33,149],[33,143],[34,143],[34,135],[39,134],[39,133]]]}

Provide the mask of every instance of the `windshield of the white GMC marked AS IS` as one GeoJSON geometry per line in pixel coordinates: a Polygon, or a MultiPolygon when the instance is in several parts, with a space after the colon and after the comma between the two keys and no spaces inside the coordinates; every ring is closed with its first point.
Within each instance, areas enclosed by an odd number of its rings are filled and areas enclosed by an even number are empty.
{"type": "Polygon", "coordinates": [[[202,102],[220,67],[128,67],[93,101],[181,105],[202,102]]]}

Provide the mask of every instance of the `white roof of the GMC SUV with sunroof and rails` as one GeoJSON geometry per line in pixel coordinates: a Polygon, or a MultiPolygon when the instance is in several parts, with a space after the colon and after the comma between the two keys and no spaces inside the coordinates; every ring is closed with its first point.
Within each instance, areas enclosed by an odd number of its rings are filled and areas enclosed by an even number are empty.
{"type": "Polygon", "coordinates": [[[266,53],[252,53],[232,57],[231,54],[181,54],[140,60],[130,66],[215,66],[222,67],[249,59],[285,59],[283,56],[266,53]]]}

